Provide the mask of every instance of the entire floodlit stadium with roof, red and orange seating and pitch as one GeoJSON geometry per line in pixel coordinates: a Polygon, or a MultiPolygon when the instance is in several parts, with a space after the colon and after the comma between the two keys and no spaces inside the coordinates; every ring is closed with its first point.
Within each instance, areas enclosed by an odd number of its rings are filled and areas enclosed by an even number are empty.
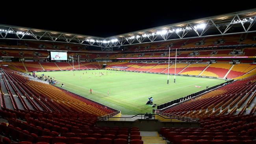
{"type": "Polygon", "coordinates": [[[0,143],[255,144],[255,19],[111,37],[0,24],[0,143]]]}

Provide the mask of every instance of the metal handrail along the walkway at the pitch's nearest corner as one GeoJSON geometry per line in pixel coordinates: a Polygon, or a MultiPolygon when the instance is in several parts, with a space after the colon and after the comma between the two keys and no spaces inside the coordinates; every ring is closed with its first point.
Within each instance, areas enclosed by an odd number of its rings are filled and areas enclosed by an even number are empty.
{"type": "Polygon", "coordinates": [[[160,120],[161,122],[167,122],[167,121],[173,122],[175,120],[180,120],[181,122],[198,122],[199,121],[199,118],[189,118],[185,116],[176,116],[172,114],[170,114],[170,117],[169,116],[164,117],[164,115],[161,115],[161,114],[136,114],[134,116],[124,116],[124,117],[113,117],[113,116],[98,117],[98,121],[135,121],[135,120],[142,120],[142,119],[160,120]]]}

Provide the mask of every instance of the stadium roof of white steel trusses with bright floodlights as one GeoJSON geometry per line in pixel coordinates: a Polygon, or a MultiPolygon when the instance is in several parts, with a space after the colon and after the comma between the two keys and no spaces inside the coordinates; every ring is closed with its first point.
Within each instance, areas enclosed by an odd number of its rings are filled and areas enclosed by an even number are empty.
{"type": "Polygon", "coordinates": [[[111,49],[149,42],[256,32],[255,18],[256,9],[249,9],[106,38],[0,24],[0,39],[65,42],[111,49]]]}

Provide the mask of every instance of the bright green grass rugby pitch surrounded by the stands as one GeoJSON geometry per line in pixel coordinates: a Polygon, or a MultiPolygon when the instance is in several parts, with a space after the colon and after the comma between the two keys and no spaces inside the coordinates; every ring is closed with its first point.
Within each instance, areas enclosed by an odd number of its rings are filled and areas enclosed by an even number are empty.
{"type": "Polygon", "coordinates": [[[154,104],[160,105],[203,90],[206,85],[212,87],[224,82],[223,79],[176,76],[174,83],[174,76],[169,76],[170,82],[167,85],[167,75],[113,70],[56,71],[36,74],[55,77],[60,83],[58,87],[63,83],[65,85],[63,89],[121,110],[122,114],[152,113],[152,106],[146,105],[148,97],[151,96],[154,104]],[[104,75],[99,76],[99,72],[104,75]],[[89,89],[93,90],[92,94],[89,89]]]}

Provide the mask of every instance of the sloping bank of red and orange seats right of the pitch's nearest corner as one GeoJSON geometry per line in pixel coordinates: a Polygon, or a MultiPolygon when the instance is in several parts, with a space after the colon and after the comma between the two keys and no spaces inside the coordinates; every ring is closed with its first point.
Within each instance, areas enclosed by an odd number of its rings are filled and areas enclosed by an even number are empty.
{"type": "MultiPolygon", "coordinates": [[[[203,94],[200,97],[195,98],[195,100],[189,100],[180,105],[167,108],[163,113],[197,118],[215,116],[220,113],[221,109],[226,110],[228,105],[229,109],[232,109],[234,105],[243,98],[244,100],[239,102],[239,105],[237,106],[239,108],[239,106],[241,106],[256,89],[255,78],[256,76],[253,76],[235,81],[232,84],[225,85],[219,89],[203,94]],[[215,111],[213,111],[213,108],[215,111]],[[205,111],[206,109],[208,109],[207,112],[205,111]]],[[[255,94],[252,95],[255,96],[255,94]]],[[[225,111],[225,113],[227,112],[228,111],[225,111]]]]}

